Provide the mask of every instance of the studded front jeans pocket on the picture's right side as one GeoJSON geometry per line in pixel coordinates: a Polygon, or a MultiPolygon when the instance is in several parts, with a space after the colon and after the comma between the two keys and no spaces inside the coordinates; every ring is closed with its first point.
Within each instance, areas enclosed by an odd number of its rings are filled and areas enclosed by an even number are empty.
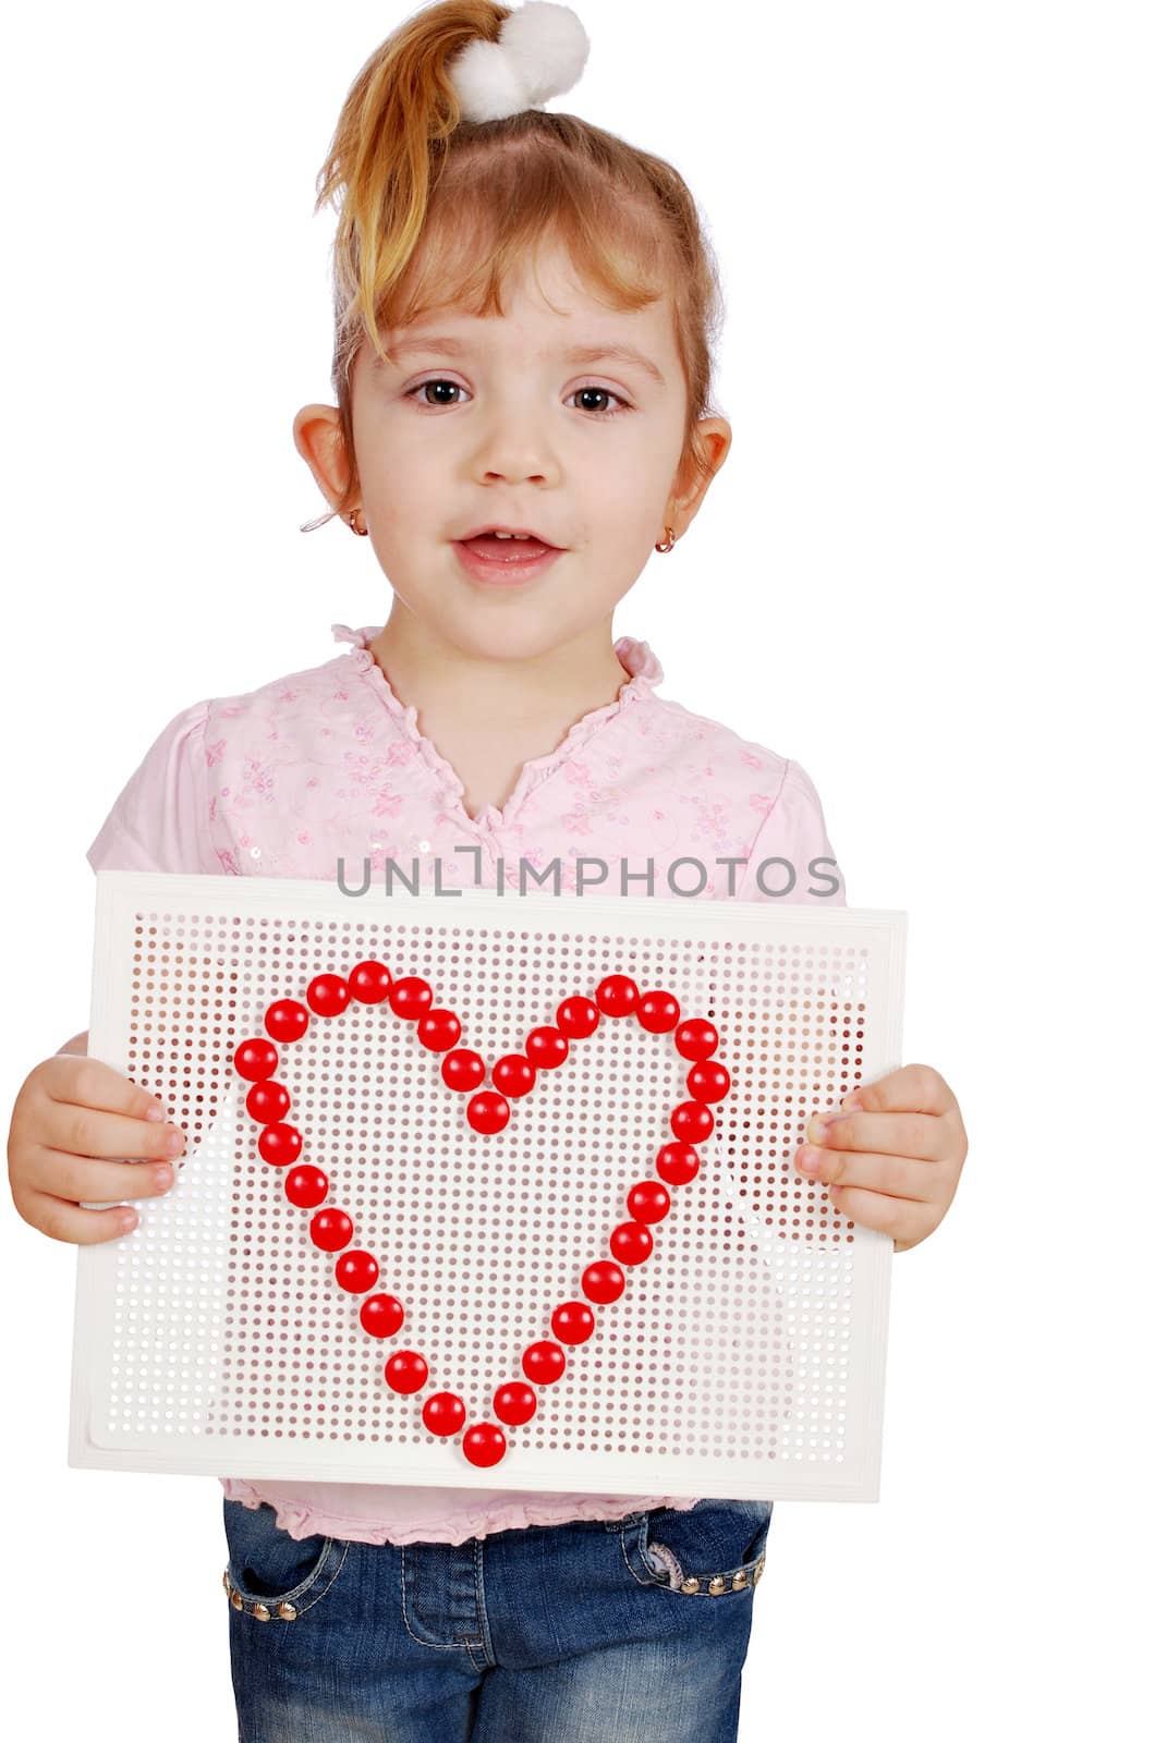
{"type": "Polygon", "coordinates": [[[766,1567],[771,1501],[698,1501],[626,1522],[628,1572],[640,1586],[720,1598],[754,1591],[766,1567]]]}

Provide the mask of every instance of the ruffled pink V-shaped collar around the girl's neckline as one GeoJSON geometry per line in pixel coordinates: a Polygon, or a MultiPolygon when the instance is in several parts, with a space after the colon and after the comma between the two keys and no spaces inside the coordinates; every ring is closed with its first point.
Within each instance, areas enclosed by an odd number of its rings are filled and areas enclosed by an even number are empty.
{"type": "Polygon", "coordinates": [[[523,763],[515,790],[502,809],[497,805],[487,805],[476,817],[471,817],[462,805],[466,783],[461,779],[454,765],[447,762],[433,739],[427,739],[426,734],[419,730],[417,708],[412,702],[408,706],[401,702],[384,671],[370,654],[368,645],[373,636],[380,634],[382,627],[382,624],[365,624],[363,629],[349,629],[347,624],[333,624],[331,633],[335,641],[352,643],[349,657],[352,659],[354,671],[358,671],[373,694],[380,697],[403,736],[415,746],[426,767],[431,769],[433,774],[443,783],[448,791],[450,809],[457,810],[464,824],[478,835],[487,835],[499,826],[509,824],[520,805],[527,802],[530,793],[541,786],[548,776],[555,774],[556,769],[569,762],[583,748],[584,741],[593,737],[593,734],[598,732],[607,720],[623,713],[623,709],[626,709],[631,702],[651,695],[665,676],[661,662],[647,641],[637,641],[635,636],[621,636],[612,643],[612,650],[628,673],[628,682],[619,687],[614,701],[602,702],[600,708],[593,708],[586,715],[581,715],[553,751],[548,751],[546,756],[536,756],[532,762],[523,763]]]}

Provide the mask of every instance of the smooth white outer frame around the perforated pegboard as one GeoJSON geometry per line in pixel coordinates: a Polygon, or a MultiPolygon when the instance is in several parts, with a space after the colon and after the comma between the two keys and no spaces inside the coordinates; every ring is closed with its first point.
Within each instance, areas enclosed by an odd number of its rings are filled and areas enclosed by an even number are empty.
{"type": "MultiPolygon", "coordinates": [[[[99,872],[89,1051],[117,1070],[127,1070],[131,1021],[131,976],[126,973],[124,962],[127,927],[143,910],[173,912],[183,906],[195,908],[208,919],[218,917],[222,922],[241,917],[270,920],[295,917],[305,922],[359,917],[368,924],[408,924],[410,927],[447,927],[457,922],[488,929],[516,926],[522,931],[541,926],[558,931],[586,929],[588,934],[635,931],[645,939],[668,941],[686,941],[694,934],[727,943],[785,936],[808,946],[825,938],[863,938],[874,987],[869,990],[865,1025],[865,1039],[872,1046],[863,1058],[862,1081],[883,1077],[898,1063],[907,917],[893,910],[710,899],[661,901],[635,896],[588,896],[574,901],[569,898],[565,903],[563,898],[515,892],[502,896],[461,894],[457,901],[438,896],[401,898],[379,892],[358,899],[319,880],[99,872]]],[[[382,955],[389,959],[387,950],[382,955]]],[[[401,973],[401,964],[391,962],[389,966],[394,974],[401,973]]],[[[618,969],[619,962],[611,962],[611,971],[618,969]]],[[[417,973],[417,967],[408,967],[406,973],[417,973]]],[[[291,988],[284,988],[284,992],[291,992],[291,988]]],[[[586,988],[565,985],[562,995],[569,992],[586,992],[586,988]]],[[[277,995],[281,994],[272,990],[272,997],[277,995]]],[[[436,1002],[443,1002],[441,994],[436,995],[436,1002]]],[[[682,1014],[700,1013],[684,1011],[682,1014]]],[[[539,1020],[551,1021],[553,1014],[544,1013],[539,1020]]],[[[260,1025],[255,1025],[251,1032],[262,1032],[260,1025]]],[[[471,1037],[464,1035],[462,1044],[473,1044],[471,1037]]],[[[515,1035],[515,1046],[522,1046],[520,1034],[515,1035]]],[[[487,1056],[487,1063],[490,1065],[490,1056],[487,1056]]],[[[522,1109],[522,1103],[518,1107],[522,1109]]],[[[188,1152],[183,1161],[190,1163],[194,1156],[188,1152]]],[[[164,1218],[167,1203],[171,1203],[171,1196],[140,1199],[136,1208],[143,1218],[164,1218]]],[[[330,1455],[321,1445],[309,1447],[305,1454],[304,1445],[281,1445],[274,1440],[256,1443],[253,1438],[241,1441],[230,1434],[202,1436],[194,1443],[185,1438],[181,1448],[152,1434],[152,1431],[110,1436],[108,1431],[98,1429],[98,1417],[106,1405],[110,1384],[110,1314],[117,1276],[124,1269],[124,1248],[141,1232],[141,1225],[131,1236],[78,1248],[77,1253],[70,1464],[75,1468],[215,1476],[230,1471],[251,1480],[302,1476],[311,1482],[392,1482],[598,1494],[644,1494],[666,1489],[672,1494],[734,1499],[876,1501],[879,1495],[891,1239],[858,1224],[846,1224],[846,1227],[855,1258],[851,1319],[856,1339],[851,1349],[848,1387],[851,1454],[843,1469],[830,1469],[816,1461],[787,1461],[778,1468],[759,1469],[757,1461],[741,1459],[727,1462],[719,1457],[658,1454],[647,1461],[644,1454],[605,1452],[583,1457],[511,1447],[502,1464],[476,1471],[464,1459],[457,1462],[434,1459],[433,1443],[410,1450],[345,1441],[344,1452],[330,1455]],[[311,1476],[305,1457],[311,1464],[311,1476]]],[[[359,1245],[359,1229],[354,1239],[359,1245]]],[[[532,1325],[532,1337],[536,1335],[548,1333],[532,1325]]],[[[508,1375],[499,1375],[499,1379],[504,1377],[508,1375]]]]}

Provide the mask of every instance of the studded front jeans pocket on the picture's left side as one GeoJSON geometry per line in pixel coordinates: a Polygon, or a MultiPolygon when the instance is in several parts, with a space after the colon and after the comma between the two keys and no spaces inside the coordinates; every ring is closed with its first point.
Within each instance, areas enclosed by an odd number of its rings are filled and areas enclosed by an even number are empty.
{"type": "Polygon", "coordinates": [[[291,1537],[263,1501],[246,1508],[223,1497],[227,1567],[223,1590],[232,1607],[260,1623],[293,1623],[328,1595],[351,1544],[340,1537],[291,1537]]]}

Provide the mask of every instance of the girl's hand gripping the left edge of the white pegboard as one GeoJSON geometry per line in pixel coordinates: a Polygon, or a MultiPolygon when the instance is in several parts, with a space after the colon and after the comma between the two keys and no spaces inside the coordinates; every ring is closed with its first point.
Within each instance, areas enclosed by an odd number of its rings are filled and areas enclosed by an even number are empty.
{"type": "Polygon", "coordinates": [[[166,1110],[148,1089],[101,1060],[58,1053],[33,1067],[12,1107],[12,1199],[24,1222],[54,1241],[112,1241],[126,1232],[126,1208],[82,1210],[77,1201],[166,1192],[174,1180],[169,1161],[183,1149],[180,1128],[166,1124],[166,1110]],[[178,1150],[167,1147],[173,1135],[181,1140],[178,1150]],[[127,1156],[154,1161],[155,1168],[105,1161],[127,1156]],[[164,1183],[159,1163],[167,1163],[164,1183]]]}

